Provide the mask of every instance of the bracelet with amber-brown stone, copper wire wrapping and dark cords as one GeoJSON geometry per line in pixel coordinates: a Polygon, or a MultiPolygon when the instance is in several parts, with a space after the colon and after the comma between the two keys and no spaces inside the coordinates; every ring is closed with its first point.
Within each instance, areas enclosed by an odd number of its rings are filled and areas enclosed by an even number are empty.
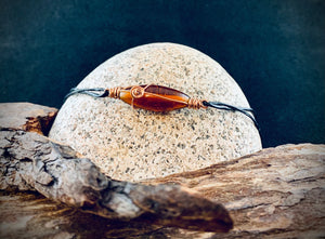
{"type": "Polygon", "coordinates": [[[142,108],[152,111],[171,111],[184,107],[199,108],[217,108],[231,111],[239,111],[251,119],[259,130],[259,125],[252,116],[251,108],[232,106],[221,102],[208,102],[205,99],[192,98],[187,94],[167,87],[157,84],[142,84],[127,88],[91,88],[77,89],[73,88],[65,98],[74,94],[87,94],[93,97],[112,97],[123,101],[135,108],[142,108]]]}

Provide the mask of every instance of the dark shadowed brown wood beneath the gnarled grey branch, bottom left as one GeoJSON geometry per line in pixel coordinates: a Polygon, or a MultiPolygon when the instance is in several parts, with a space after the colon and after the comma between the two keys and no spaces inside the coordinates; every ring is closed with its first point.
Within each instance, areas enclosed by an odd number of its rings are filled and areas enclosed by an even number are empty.
{"type": "Polygon", "coordinates": [[[0,191],[0,238],[148,238],[173,229],[82,213],[39,194],[0,191]]]}

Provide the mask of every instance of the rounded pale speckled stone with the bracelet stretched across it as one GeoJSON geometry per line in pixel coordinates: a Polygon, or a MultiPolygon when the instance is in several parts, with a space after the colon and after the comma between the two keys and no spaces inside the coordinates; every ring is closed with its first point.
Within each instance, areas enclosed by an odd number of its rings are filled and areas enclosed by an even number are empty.
{"type": "MultiPolygon", "coordinates": [[[[78,88],[160,84],[190,96],[235,106],[249,104],[212,58],[194,49],[154,43],[104,62],[78,88]]],[[[170,112],[132,109],[114,98],[70,96],[50,137],[73,146],[104,173],[140,181],[200,169],[261,149],[253,122],[239,112],[183,108],[170,112]]]]}

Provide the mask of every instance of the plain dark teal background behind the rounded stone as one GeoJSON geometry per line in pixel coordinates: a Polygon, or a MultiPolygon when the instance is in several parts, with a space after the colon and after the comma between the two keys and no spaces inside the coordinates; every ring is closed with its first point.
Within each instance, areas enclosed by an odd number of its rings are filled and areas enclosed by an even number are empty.
{"type": "Polygon", "coordinates": [[[0,101],[60,107],[99,64],[152,42],[219,62],[256,109],[264,147],[325,143],[323,0],[0,0],[0,101]]]}

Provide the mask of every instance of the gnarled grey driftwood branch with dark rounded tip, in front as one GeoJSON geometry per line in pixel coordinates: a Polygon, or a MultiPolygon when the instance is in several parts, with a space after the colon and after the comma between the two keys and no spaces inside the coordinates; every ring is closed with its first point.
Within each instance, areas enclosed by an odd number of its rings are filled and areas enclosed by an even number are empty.
{"type": "Polygon", "coordinates": [[[0,131],[0,189],[36,190],[49,199],[106,218],[134,220],[205,231],[227,231],[219,203],[179,185],[114,181],[70,147],[37,133],[0,131]]]}

